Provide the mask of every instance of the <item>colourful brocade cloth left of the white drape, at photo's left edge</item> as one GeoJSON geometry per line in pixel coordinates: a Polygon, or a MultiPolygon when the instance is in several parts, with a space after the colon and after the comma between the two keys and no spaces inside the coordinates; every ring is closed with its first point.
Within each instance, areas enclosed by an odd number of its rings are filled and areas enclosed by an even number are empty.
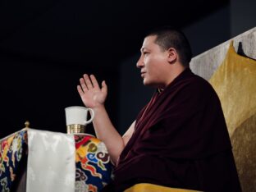
{"type": "Polygon", "coordinates": [[[27,152],[27,133],[21,130],[0,140],[0,191],[11,191],[16,173],[21,169],[19,162],[27,152]]]}

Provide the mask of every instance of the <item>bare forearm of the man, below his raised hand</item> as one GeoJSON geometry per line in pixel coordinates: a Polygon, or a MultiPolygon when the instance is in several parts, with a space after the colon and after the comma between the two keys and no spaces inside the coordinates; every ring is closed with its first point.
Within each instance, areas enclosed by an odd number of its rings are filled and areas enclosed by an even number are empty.
{"type": "Polygon", "coordinates": [[[121,151],[124,149],[124,141],[112,125],[107,111],[103,105],[94,107],[94,130],[98,137],[107,146],[112,162],[116,163],[121,151]]]}

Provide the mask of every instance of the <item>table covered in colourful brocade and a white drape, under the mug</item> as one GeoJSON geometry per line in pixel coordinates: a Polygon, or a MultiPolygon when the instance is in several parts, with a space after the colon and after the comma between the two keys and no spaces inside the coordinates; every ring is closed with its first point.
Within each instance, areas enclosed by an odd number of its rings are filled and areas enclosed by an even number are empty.
{"type": "Polygon", "coordinates": [[[109,154],[94,135],[25,128],[0,139],[0,191],[100,191],[111,181],[109,154]]]}

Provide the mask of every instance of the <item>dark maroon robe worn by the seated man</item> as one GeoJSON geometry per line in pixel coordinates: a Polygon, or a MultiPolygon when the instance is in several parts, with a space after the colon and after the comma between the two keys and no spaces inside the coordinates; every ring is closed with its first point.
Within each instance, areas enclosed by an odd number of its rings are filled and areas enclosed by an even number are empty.
{"type": "Polygon", "coordinates": [[[114,169],[116,191],[152,183],[240,191],[221,103],[208,81],[186,69],[139,112],[114,169]]]}

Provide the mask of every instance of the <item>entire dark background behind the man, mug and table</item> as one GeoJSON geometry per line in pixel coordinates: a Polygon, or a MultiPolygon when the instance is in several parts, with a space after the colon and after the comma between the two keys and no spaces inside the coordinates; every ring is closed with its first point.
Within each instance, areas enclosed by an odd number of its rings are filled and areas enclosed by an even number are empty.
{"type": "MultiPolygon", "coordinates": [[[[64,108],[83,105],[76,85],[84,73],[107,81],[107,111],[123,133],[154,91],[135,67],[146,30],[181,28],[195,56],[254,27],[255,3],[1,2],[0,138],[26,120],[36,129],[66,132],[64,108]]],[[[91,125],[87,132],[94,134],[91,125]]]]}

